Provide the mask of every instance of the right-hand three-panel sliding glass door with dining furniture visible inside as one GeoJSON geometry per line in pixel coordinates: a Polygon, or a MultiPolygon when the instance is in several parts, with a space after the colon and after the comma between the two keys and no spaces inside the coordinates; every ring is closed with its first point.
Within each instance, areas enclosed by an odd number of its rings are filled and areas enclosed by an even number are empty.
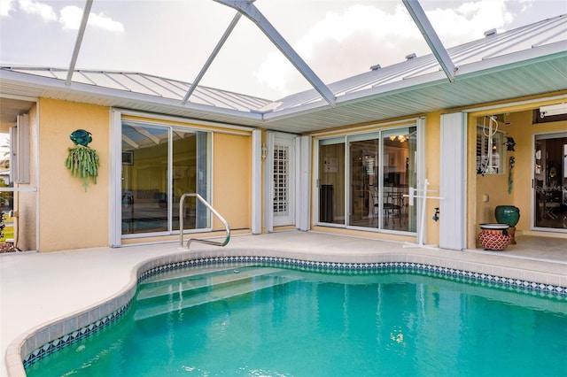
{"type": "Polygon", "coordinates": [[[416,127],[319,141],[319,222],[416,232],[416,127]]]}

